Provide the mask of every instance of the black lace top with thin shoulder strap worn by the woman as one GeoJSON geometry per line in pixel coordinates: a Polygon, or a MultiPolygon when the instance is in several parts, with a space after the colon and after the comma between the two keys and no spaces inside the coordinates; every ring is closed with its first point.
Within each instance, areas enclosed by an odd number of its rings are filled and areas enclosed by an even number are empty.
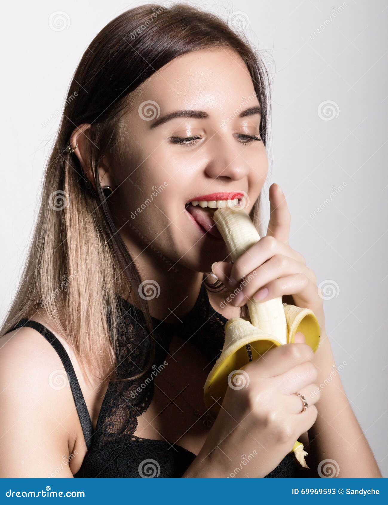
{"type": "MultiPolygon", "coordinates": [[[[147,338],[142,313],[122,298],[120,304],[123,317],[119,331],[121,349],[117,370],[119,376],[128,377],[138,374],[148,362],[150,341],[147,338]]],[[[223,348],[224,326],[227,319],[211,307],[204,284],[194,307],[181,318],[182,322],[167,323],[151,319],[152,336],[155,341],[153,370],[166,359],[173,334],[183,340],[190,339],[211,366],[223,348]]],[[[17,326],[23,326],[25,322],[26,320],[23,320],[17,326]]],[[[56,340],[58,344],[58,339],[52,333],[43,326],[41,328],[45,331],[35,329],[44,334],[53,345],[56,340]]],[[[57,351],[61,356],[59,349],[57,351]]],[[[66,351],[62,348],[63,353],[66,354],[66,351]]],[[[69,376],[72,377],[71,385],[78,385],[74,370],[73,372],[69,370],[71,364],[66,363],[64,359],[62,361],[66,371],[70,372],[69,376]]],[[[82,466],[74,477],[182,477],[195,459],[194,453],[180,445],[134,435],[138,416],[148,409],[152,401],[153,380],[147,382],[143,376],[130,381],[110,382],[102,401],[95,431],[90,418],[86,419],[85,411],[82,411],[85,407],[79,400],[82,393],[80,390],[77,393],[73,388],[72,392],[88,447],[82,466]]],[[[293,455],[289,454],[266,477],[305,477],[305,475],[293,455]]]]}

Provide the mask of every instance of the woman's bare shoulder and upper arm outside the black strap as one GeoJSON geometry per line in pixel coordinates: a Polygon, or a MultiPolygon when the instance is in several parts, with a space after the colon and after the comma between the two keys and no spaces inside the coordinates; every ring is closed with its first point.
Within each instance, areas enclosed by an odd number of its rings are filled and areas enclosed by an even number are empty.
{"type": "MultiPolygon", "coordinates": [[[[37,331],[0,338],[0,477],[49,477],[77,437],[67,374],[37,331]]],[[[70,468],[62,477],[71,477],[70,468]]]]}

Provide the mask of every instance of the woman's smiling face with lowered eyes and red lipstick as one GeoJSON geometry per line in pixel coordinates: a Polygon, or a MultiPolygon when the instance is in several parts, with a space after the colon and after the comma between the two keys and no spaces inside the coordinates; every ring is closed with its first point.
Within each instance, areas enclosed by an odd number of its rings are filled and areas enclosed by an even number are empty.
{"type": "Polygon", "coordinates": [[[136,96],[122,120],[124,162],[111,169],[120,233],[131,252],[208,272],[228,255],[213,206],[240,192],[249,212],[267,174],[249,72],[230,50],[197,51],[155,72],[136,96]],[[169,118],[177,111],[185,112],[169,118]]]}

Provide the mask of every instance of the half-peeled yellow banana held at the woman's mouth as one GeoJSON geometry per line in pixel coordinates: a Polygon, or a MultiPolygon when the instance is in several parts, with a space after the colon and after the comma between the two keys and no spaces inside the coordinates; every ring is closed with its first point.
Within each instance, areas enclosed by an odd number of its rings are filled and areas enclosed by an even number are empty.
{"type": "MultiPolygon", "coordinates": [[[[260,240],[243,209],[220,208],[214,212],[213,219],[234,261],[260,240]]],[[[257,360],[272,347],[294,342],[298,331],[304,334],[306,343],[314,352],[319,344],[320,327],[311,310],[283,304],[281,296],[263,302],[249,299],[247,306],[249,318],[234,317],[226,323],[223,350],[204,385],[205,406],[214,417],[219,412],[228,384],[236,389],[248,385],[248,374],[244,375],[240,369],[249,361],[257,360]],[[233,384],[233,377],[237,386],[233,384]]],[[[307,452],[303,444],[295,442],[293,451],[300,464],[307,468],[304,460],[307,452]]]]}

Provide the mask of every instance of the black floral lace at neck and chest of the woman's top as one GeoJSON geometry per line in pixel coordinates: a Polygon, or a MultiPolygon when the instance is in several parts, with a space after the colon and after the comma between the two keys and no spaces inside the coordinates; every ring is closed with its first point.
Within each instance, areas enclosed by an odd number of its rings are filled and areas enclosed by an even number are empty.
{"type": "MultiPolygon", "coordinates": [[[[151,318],[154,328],[151,336],[147,335],[145,322],[135,319],[135,313],[138,316],[139,311],[135,311],[129,302],[122,301],[123,317],[119,329],[121,356],[118,357],[120,376],[136,375],[144,369],[150,356],[150,338],[155,341],[152,371],[163,364],[173,335],[190,341],[209,362],[214,363],[218,358],[224,345],[227,319],[211,307],[203,284],[194,307],[182,318],[182,323],[167,323],[151,318]]],[[[93,444],[106,443],[121,436],[131,440],[137,428],[137,418],[149,408],[153,398],[152,371],[137,379],[109,383],[93,435],[93,444]]]]}

